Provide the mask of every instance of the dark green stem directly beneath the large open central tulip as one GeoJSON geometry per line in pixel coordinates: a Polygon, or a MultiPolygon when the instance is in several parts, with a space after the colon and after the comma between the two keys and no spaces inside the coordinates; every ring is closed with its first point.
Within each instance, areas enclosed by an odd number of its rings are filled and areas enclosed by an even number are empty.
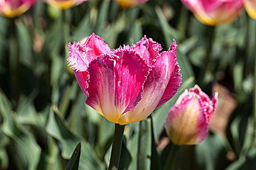
{"type": "Polygon", "coordinates": [[[125,125],[115,124],[115,133],[108,170],[118,170],[124,127],[125,125]]]}

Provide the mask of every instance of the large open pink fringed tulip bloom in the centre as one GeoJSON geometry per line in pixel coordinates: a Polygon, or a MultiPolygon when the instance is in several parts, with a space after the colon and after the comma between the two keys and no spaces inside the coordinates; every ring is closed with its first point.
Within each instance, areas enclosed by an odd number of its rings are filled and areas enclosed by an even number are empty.
{"type": "Polygon", "coordinates": [[[127,124],[148,117],[170,100],[181,83],[177,45],[169,51],[144,36],[137,45],[111,50],[92,34],[84,44],[69,44],[67,60],[86,104],[109,121],[127,124]]]}

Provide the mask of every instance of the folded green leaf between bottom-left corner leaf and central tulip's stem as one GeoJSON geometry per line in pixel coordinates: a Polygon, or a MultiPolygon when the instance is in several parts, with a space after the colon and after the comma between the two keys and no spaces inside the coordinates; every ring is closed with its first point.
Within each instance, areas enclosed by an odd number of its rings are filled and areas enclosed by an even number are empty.
{"type": "Polygon", "coordinates": [[[61,156],[69,159],[77,143],[81,142],[81,157],[79,167],[81,170],[102,170],[104,165],[98,160],[90,144],[83,138],[72,132],[56,105],[50,111],[46,124],[46,132],[61,143],[61,156]]]}

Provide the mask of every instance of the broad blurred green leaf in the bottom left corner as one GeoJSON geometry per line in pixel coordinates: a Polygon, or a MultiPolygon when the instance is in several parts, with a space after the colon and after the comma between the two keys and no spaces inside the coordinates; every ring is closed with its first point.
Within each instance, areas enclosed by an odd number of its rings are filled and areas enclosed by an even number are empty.
{"type": "Polygon", "coordinates": [[[7,151],[12,153],[12,166],[18,170],[35,170],[41,149],[34,136],[25,128],[20,128],[21,125],[15,121],[11,104],[1,89],[0,113],[3,117],[2,132],[11,139],[7,151]]]}

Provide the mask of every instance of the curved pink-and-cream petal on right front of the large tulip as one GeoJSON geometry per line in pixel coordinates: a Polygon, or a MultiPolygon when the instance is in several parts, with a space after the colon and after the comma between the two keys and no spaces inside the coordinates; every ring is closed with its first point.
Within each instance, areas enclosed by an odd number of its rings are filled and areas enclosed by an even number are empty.
{"type": "Polygon", "coordinates": [[[178,78],[178,71],[175,50],[162,52],[161,56],[156,59],[155,67],[152,69],[145,82],[141,101],[138,102],[138,105],[132,110],[123,114],[119,119],[119,123],[126,124],[136,122],[148,117],[156,109],[165,92],[166,86],[170,84],[169,82],[178,79],[177,82],[179,82],[179,84],[169,86],[169,92],[171,94],[168,94],[168,98],[172,97],[177,92],[181,83],[181,79],[178,78]],[[177,72],[173,73],[175,67],[177,67],[177,72]],[[176,79],[173,78],[173,74],[176,75],[176,79]]]}

